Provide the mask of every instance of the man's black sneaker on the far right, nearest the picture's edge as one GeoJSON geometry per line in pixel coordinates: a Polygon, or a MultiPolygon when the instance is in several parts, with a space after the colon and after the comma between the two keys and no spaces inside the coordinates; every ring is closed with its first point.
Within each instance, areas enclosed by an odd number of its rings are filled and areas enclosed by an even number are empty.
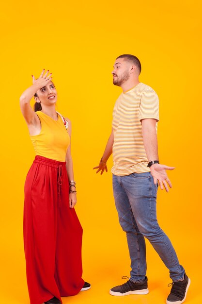
{"type": "Polygon", "coordinates": [[[179,282],[172,282],[168,286],[172,285],[171,293],[166,300],[166,304],[181,304],[186,299],[186,293],[191,281],[184,275],[184,280],[179,282]]]}

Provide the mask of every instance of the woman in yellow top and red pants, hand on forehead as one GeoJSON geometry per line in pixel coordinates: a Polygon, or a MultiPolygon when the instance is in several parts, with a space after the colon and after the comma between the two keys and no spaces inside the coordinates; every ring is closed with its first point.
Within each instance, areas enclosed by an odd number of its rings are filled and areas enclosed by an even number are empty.
{"type": "Polygon", "coordinates": [[[60,304],[91,285],[84,282],[82,227],[74,206],[76,182],[70,150],[71,122],[56,112],[49,70],[20,97],[36,152],[25,182],[24,247],[31,304],[60,304]],[[30,101],[34,96],[35,112],[30,101]],[[66,165],[65,165],[66,164],[66,165]],[[66,167],[66,169],[65,169],[66,167]]]}

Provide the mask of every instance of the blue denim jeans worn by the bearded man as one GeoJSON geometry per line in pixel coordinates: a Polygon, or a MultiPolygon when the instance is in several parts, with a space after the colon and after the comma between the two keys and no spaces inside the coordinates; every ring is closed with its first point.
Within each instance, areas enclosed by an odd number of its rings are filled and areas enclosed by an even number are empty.
{"type": "Polygon", "coordinates": [[[144,280],[146,275],[146,237],[170,270],[172,281],[182,281],[185,270],[179,264],[170,239],[156,220],[157,185],[150,172],[113,175],[113,193],[119,222],[126,232],[131,259],[130,280],[144,280]]]}

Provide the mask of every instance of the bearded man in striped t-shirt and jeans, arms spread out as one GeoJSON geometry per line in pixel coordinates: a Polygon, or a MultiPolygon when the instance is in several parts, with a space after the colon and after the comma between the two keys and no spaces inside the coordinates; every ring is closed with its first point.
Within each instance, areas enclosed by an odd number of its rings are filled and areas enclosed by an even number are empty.
{"type": "Polygon", "coordinates": [[[123,93],[113,110],[112,132],[96,173],[107,169],[113,152],[113,193],[119,222],[126,232],[131,259],[130,279],[110,289],[114,296],[147,294],[146,237],[170,270],[171,293],[167,304],[180,304],[186,299],[190,285],[179,264],[171,241],[156,220],[156,193],[160,186],[168,192],[171,182],[159,164],[157,151],[158,96],[148,85],[140,83],[140,61],[136,56],[119,56],[112,71],[113,84],[123,93]]]}

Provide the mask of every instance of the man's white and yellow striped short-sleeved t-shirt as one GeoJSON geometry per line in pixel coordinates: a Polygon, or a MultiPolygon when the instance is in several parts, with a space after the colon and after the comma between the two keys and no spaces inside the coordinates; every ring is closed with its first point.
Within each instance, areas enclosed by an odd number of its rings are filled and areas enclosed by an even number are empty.
{"type": "Polygon", "coordinates": [[[122,93],[114,105],[113,174],[124,176],[150,171],[142,137],[141,119],[144,118],[159,120],[158,96],[150,86],[139,83],[122,93]]]}

